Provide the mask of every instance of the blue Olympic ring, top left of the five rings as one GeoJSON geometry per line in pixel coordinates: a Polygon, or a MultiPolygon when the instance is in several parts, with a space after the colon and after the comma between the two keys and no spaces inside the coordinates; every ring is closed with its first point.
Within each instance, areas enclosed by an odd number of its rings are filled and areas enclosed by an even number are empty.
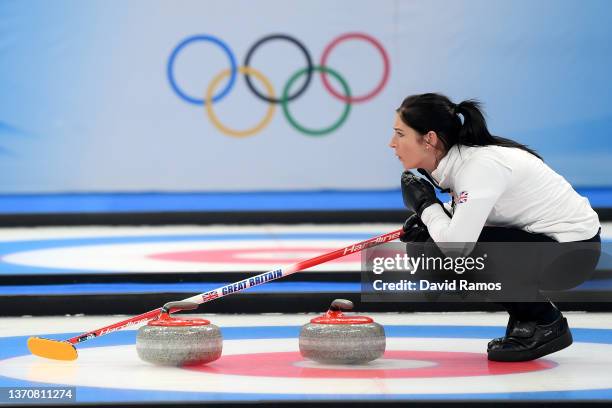
{"type": "Polygon", "coordinates": [[[196,42],[196,41],[208,41],[215,45],[218,45],[221,48],[221,50],[225,53],[225,55],[227,55],[227,58],[230,61],[229,81],[227,82],[227,85],[225,85],[225,87],[221,89],[218,94],[213,95],[213,98],[212,98],[213,102],[217,102],[220,99],[224,98],[225,95],[227,95],[229,91],[231,91],[232,87],[234,86],[234,82],[236,82],[236,76],[238,72],[236,58],[234,57],[234,53],[232,52],[232,50],[230,50],[229,46],[226,43],[224,43],[222,40],[220,40],[217,37],[214,37],[212,35],[205,35],[205,34],[194,35],[194,36],[184,39],[179,45],[177,45],[172,51],[172,54],[170,54],[170,58],[168,59],[168,67],[167,67],[168,81],[170,81],[170,85],[172,86],[172,89],[174,90],[174,92],[176,92],[178,96],[180,96],[181,98],[183,98],[189,103],[193,103],[195,105],[204,105],[204,98],[194,98],[192,96],[187,95],[185,92],[181,90],[181,88],[179,88],[178,84],[174,80],[174,61],[176,60],[177,55],[187,45],[193,42],[196,42]]]}

